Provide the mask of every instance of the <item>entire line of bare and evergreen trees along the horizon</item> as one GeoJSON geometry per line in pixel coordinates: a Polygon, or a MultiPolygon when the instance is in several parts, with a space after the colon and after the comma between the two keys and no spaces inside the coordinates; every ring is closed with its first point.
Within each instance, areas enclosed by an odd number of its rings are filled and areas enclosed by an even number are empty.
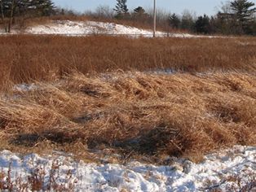
{"type": "MultiPolygon", "coordinates": [[[[249,0],[233,0],[223,4],[215,15],[199,15],[184,11],[182,15],[157,10],[157,26],[166,31],[184,30],[203,34],[256,35],[256,7],[249,0]]],[[[55,7],[51,0],[0,0],[1,24],[6,32],[16,18],[34,18],[50,15],[79,15],[72,10],[55,7]]],[[[130,11],[127,0],[117,0],[116,7],[99,6],[94,12],[86,12],[99,19],[130,20],[152,26],[153,11],[136,7],[130,11]]]]}

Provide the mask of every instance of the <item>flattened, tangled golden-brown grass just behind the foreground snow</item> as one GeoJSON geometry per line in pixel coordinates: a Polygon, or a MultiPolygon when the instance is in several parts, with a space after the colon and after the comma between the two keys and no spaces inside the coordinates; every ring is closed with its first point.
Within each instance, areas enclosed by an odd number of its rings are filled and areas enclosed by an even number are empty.
{"type": "Polygon", "coordinates": [[[0,135],[7,149],[107,148],[121,160],[164,163],[166,155],[198,160],[219,148],[255,145],[255,116],[256,78],[246,72],[74,73],[2,96],[0,135]],[[86,147],[70,147],[77,143],[86,147]]]}

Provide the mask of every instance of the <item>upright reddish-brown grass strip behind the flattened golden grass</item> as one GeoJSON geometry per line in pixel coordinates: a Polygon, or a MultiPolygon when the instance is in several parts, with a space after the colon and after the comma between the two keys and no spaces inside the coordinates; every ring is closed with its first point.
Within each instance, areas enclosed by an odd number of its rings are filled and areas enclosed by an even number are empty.
{"type": "Polygon", "coordinates": [[[254,72],[255,38],[0,37],[0,85],[52,81],[73,70],[172,68],[254,72]]]}

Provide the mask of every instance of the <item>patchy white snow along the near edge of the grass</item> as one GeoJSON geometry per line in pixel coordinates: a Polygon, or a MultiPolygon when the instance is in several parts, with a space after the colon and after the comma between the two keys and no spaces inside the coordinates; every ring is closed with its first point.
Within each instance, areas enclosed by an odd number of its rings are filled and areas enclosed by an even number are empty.
{"type": "Polygon", "coordinates": [[[8,172],[10,162],[11,181],[16,177],[25,181],[37,170],[45,176],[44,185],[52,175],[58,174],[55,182],[67,188],[74,185],[75,191],[236,191],[245,185],[245,191],[256,190],[256,147],[253,146],[235,146],[232,150],[207,155],[201,164],[184,159],[174,159],[170,166],[138,162],[85,164],[68,155],[22,157],[10,151],[0,152],[2,172],[8,172]]]}

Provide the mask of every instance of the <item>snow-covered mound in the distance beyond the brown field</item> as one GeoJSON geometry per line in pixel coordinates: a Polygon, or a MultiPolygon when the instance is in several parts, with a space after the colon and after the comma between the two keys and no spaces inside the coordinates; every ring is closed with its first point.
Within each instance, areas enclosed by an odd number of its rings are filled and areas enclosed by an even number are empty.
{"type": "MultiPolygon", "coordinates": [[[[21,33],[13,31],[12,33],[21,33]]],[[[70,20],[55,20],[48,24],[29,27],[24,30],[25,34],[51,34],[65,36],[86,36],[94,34],[107,35],[126,35],[132,37],[152,37],[151,30],[143,30],[140,28],[125,26],[114,23],[104,23],[95,21],[70,21],[70,20]]],[[[1,34],[1,32],[0,32],[1,34]]],[[[3,33],[2,33],[3,34],[3,33]]],[[[157,37],[167,37],[167,33],[157,32],[157,37]]],[[[188,33],[170,33],[170,37],[201,37],[194,36],[188,33]]]]}

